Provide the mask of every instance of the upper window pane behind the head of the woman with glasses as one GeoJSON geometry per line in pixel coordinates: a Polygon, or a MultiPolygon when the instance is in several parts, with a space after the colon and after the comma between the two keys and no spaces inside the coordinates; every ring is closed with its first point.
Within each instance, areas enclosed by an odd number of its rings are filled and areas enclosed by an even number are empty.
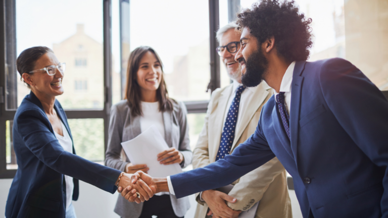
{"type": "MultiPolygon", "coordinates": [[[[17,55],[47,46],[66,63],[65,92],[57,97],[64,108],[104,106],[102,7],[94,0],[16,1],[17,55]]],[[[30,90],[20,76],[17,81],[19,105],[30,90]]]]}

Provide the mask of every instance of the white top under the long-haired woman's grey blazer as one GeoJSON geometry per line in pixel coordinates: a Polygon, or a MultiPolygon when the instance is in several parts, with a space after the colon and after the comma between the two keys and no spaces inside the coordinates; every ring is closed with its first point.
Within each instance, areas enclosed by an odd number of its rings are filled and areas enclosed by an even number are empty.
{"type": "MultiPolygon", "coordinates": [[[[140,117],[140,130],[146,131],[152,125],[155,125],[160,134],[166,140],[164,135],[164,122],[163,113],[159,111],[159,101],[157,102],[144,102],[141,101],[141,111],[143,115],[140,117]]],[[[158,158],[158,157],[155,157],[158,158]]],[[[160,192],[155,195],[169,194],[168,192],[160,192]]]]}

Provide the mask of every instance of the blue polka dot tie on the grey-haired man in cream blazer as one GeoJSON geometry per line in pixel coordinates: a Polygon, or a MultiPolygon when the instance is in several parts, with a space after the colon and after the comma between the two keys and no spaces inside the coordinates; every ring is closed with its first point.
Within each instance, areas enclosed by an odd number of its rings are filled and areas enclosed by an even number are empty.
{"type": "Polygon", "coordinates": [[[245,87],[239,86],[236,89],[236,95],[232,103],[230,104],[228,115],[226,116],[224,129],[222,130],[220,147],[218,148],[216,161],[225,157],[226,154],[229,154],[233,139],[234,139],[234,130],[236,129],[236,122],[238,116],[238,106],[240,104],[241,93],[243,93],[245,87]]]}

